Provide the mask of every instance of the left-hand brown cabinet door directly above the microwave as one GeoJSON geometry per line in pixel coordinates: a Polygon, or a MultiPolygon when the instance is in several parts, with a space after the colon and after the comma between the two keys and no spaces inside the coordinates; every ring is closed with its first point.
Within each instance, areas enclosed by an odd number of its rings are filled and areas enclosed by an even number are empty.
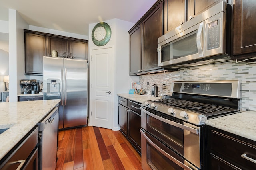
{"type": "Polygon", "coordinates": [[[186,21],[185,0],[164,1],[164,33],[171,31],[186,21]]]}

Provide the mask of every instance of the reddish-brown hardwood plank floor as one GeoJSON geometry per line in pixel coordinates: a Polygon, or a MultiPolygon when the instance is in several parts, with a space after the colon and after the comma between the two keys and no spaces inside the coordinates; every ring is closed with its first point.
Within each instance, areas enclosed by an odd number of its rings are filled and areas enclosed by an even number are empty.
{"type": "Polygon", "coordinates": [[[56,170],[141,170],[140,155],[120,131],[82,127],[59,131],[56,170]]]}

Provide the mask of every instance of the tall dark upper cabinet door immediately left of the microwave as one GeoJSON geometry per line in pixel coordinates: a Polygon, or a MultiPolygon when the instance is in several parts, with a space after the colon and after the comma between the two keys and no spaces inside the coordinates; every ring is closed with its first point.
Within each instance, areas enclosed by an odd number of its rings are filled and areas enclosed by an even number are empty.
{"type": "Polygon", "coordinates": [[[142,70],[158,69],[158,38],[162,36],[163,2],[142,22],[142,70]]]}

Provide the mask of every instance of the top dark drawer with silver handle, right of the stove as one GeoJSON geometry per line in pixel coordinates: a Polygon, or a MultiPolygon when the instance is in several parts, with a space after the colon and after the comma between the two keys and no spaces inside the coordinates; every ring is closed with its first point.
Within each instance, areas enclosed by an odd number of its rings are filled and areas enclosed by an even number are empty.
{"type": "Polygon", "coordinates": [[[224,135],[210,132],[210,152],[241,169],[256,169],[256,146],[224,135]],[[251,159],[251,160],[250,160],[251,159]]]}

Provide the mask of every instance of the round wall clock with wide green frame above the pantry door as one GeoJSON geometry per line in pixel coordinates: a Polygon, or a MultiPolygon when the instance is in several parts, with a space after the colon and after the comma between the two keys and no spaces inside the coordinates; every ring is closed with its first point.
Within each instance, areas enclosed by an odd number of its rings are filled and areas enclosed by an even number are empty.
{"type": "Polygon", "coordinates": [[[105,22],[97,23],[92,29],[92,42],[97,46],[106,45],[111,37],[110,26],[105,22]]]}

